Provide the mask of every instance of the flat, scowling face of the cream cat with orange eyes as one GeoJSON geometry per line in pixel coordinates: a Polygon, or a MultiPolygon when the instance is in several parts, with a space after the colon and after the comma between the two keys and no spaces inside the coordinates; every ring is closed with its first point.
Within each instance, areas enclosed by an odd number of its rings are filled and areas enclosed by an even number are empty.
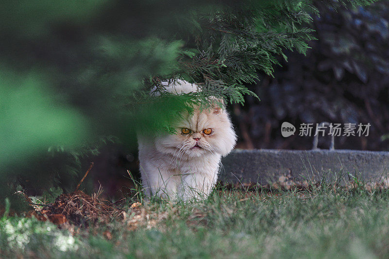
{"type": "Polygon", "coordinates": [[[193,116],[175,125],[176,134],[167,134],[155,139],[159,152],[179,159],[203,155],[227,155],[236,142],[230,119],[225,110],[196,109],[193,116]]]}

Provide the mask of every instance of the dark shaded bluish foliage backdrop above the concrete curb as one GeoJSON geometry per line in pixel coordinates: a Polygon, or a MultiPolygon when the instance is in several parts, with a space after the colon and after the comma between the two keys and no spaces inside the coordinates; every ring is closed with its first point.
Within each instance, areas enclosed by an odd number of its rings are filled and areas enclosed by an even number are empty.
{"type": "MultiPolygon", "coordinates": [[[[286,53],[274,78],[249,86],[261,101],[248,97],[244,107],[234,106],[237,147],[311,149],[312,138],[299,137],[299,125],[328,121],[371,124],[368,137],[337,137],[336,149],[389,149],[388,1],[337,12],[318,6],[323,15],[314,18],[312,49],[306,56],[286,53]],[[283,121],[297,134],[283,138],[283,121]]],[[[329,138],[320,146],[328,148],[329,138]]]]}

